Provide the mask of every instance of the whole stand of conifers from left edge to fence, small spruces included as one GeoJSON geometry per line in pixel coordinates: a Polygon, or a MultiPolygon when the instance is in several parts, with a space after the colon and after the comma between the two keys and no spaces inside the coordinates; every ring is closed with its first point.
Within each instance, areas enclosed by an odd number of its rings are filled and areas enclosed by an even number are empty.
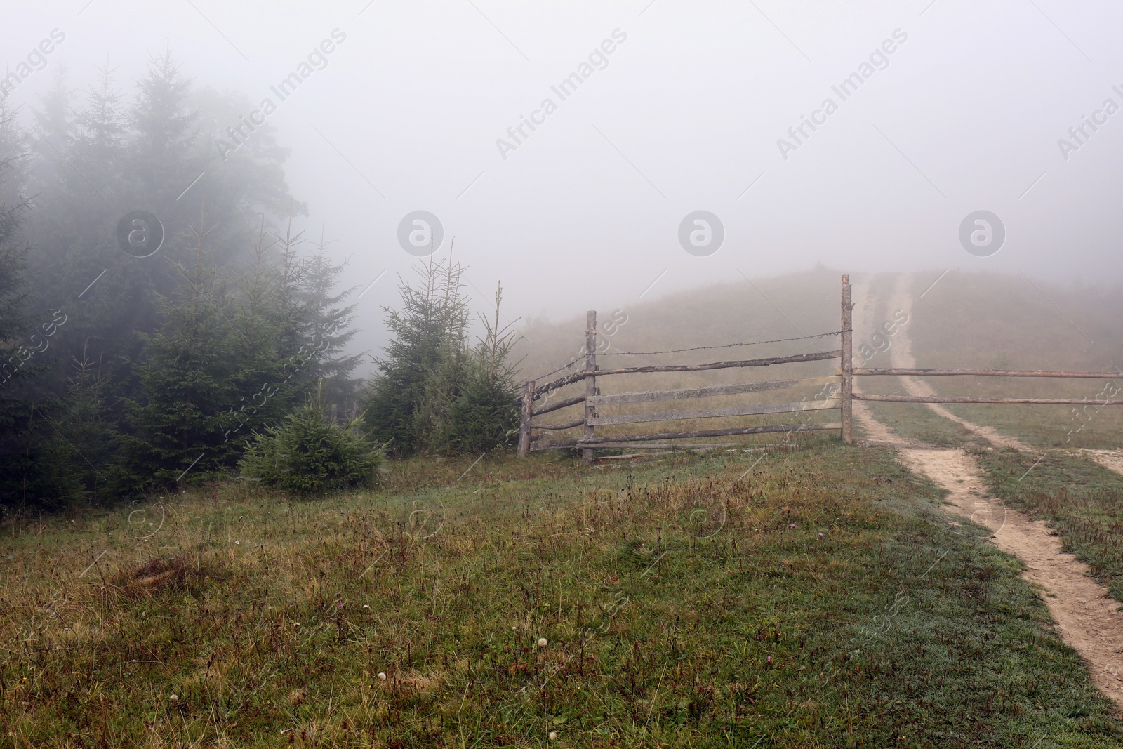
{"type": "Polygon", "coordinates": [[[345,265],[292,228],[309,208],[272,129],[219,154],[245,102],[171,54],[124,89],[101,68],[31,112],[0,101],[0,504],[374,486],[385,459],[512,442],[501,290],[473,341],[463,267],[419,262],[364,381],[345,265]]]}

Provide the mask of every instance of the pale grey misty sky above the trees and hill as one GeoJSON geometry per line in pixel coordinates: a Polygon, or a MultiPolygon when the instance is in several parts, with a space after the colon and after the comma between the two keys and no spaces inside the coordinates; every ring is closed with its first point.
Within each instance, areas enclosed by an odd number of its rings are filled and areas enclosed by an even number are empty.
{"type": "Polygon", "coordinates": [[[82,89],[107,53],[130,99],[168,47],[197,84],[241,91],[253,109],[271,100],[304,226],[326,223],[350,283],[385,272],[359,300],[372,336],[416,259],[398,239],[414,210],[440,219],[442,249],[456,237],[481,307],[503,281],[512,318],[820,262],[933,278],[1120,275],[1115,3],[4,4],[9,72],[54,29],[65,35],[22,68],[11,97],[25,116],[53,71],[82,89]],[[293,73],[282,100],[274,89],[293,73]],[[572,74],[579,84],[560,89],[572,74]],[[520,135],[524,119],[538,124],[520,135]],[[681,244],[695,210],[721,221],[718,252],[681,244]],[[977,210],[1006,232],[988,256],[960,240],[977,210]]]}

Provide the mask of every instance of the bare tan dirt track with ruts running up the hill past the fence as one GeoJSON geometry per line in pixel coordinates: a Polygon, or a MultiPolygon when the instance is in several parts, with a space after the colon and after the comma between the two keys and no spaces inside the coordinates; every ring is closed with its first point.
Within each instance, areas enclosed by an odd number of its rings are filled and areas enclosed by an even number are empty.
{"type": "MultiPolygon", "coordinates": [[[[912,319],[912,298],[909,276],[902,276],[889,300],[889,310],[904,310],[912,319]]],[[[858,292],[858,290],[855,290],[858,292]]],[[[874,302],[868,294],[858,293],[855,305],[855,332],[869,334],[877,321],[873,317],[874,302]]],[[[868,336],[867,336],[868,337],[868,336]]],[[[860,337],[859,337],[860,339],[860,337]]],[[[907,325],[901,326],[893,337],[889,356],[894,367],[914,367],[912,342],[907,325]]],[[[901,377],[904,389],[914,395],[934,391],[913,377],[901,377]]],[[[856,380],[855,390],[860,378],[856,380]]],[[[998,435],[990,427],[980,427],[960,419],[939,404],[928,404],[932,411],[951,419],[998,447],[1014,447],[1031,451],[1021,441],[998,435]]],[[[1087,661],[1092,678],[1108,697],[1123,707],[1123,613],[1116,611],[1119,602],[1090,576],[1088,565],[1061,551],[1060,539],[1040,520],[1011,510],[987,494],[983,474],[971,456],[959,449],[939,449],[915,440],[902,438],[874,418],[866,401],[853,402],[853,413],[873,438],[897,448],[901,462],[910,471],[921,473],[949,492],[946,500],[953,512],[970,518],[990,529],[990,539],[1003,551],[1013,554],[1025,565],[1022,576],[1040,586],[1049,612],[1065,642],[1075,648],[1087,661]]],[[[1114,469],[1123,468],[1123,460],[1114,469]]]]}

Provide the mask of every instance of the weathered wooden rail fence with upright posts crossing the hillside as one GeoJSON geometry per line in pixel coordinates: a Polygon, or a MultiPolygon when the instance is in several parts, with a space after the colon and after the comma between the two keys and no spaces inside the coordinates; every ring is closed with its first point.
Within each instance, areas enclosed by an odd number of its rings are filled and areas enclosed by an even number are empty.
{"type": "MultiPolygon", "coordinates": [[[[613,369],[601,369],[596,364],[596,312],[590,311],[585,327],[585,355],[582,371],[564,375],[545,385],[538,386],[533,380],[528,380],[523,385],[522,396],[519,399],[521,407],[521,419],[519,423],[519,455],[526,456],[532,450],[579,448],[584,463],[591,463],[594,447],[613,447],[632,442],[669,440],[669,439],[692,439],[700,437],[724,437],[734,435],[759,435],[768,432],[792,432],[792,431],[815,431],[815,430],[839,430],[842,441],[846,445],[853,444],[853,401],[882,401],[893,403],[1041,403],[1060,405],[1123,405],[1123,401],[1098,400],[1089,403],[1087,399],[1044,399],[1044,398],[955,398],[943,395],[877,395],[870,393],[853,392],[853,378],[856,376],[949,376],[949,375],[975,375],[986,377],[1083,377],[1093,380],[1123,380],[1120,372],[1061,372],[1061,371],[1032,371],[1032,369],[949,369],[949,368],[902,368],[902,367],[855,367],[853,366],[853,325],[851,287],[849,275],[842,276],[842,299],[841,299],[841,330],[836,334],[841,338],[840,347],[834,350],[816,351],[811,354],[796,354],[792,356],[774,356],[758,359],[742,359],[728,362],[712,362],[710,364],[670,364],[649,365],[636,367],[619,367],[613,369]],[[615,393],[611,395],[599,394],[596,383],[599,377],[629,374],[647,373],[682,373],[682,372],[706,372],[711,369],[727,369],[737,367],[766,367],[780,364],[793,364],[797,362],[823,362],[838,359],[838,367],[833,375],[825,377],[811,377],[802,380],[773,380],[765,382],[751,382],[733,385],[716,385],[712,387],[685,387],[677,390],[651,390],[630,393],[615,393]],[[550,392],[565,387],[574,383],[584,382],[585,392],[582,395],[574,395],[554,403],[544,403],[540,408],[535,408],[535,402],[542,400],[550,392]],[[618,405],[626,403],[648,403],[657,401],[682,401],[697,398],[713,398],[718,395],[734,395],[740,393],[756,393],[769,390],[783,390],[800,385],[827,385],[838,384],[838,391],[829,399],[809,402],[806,399],[798,402],[787,403],[765,403],[752,405],[730,405],[709,409],[683,409],[668,410],[654,413],[626,413],[618,415],[599,415],[597,407],[618,405]],[[559,423],[541,423],[535,420],[554,411],[560,411],[570,407],[582,407],[582,415],[576,419],[559,423]],[[840,420],[830,423],[783,423],[747,426],[724,429],[699,429],[694,431],[661,431],[632,435],[597,436],[596,428],[603,426],[650,423],[658,421],[678,421],[686,419],[711,419],[718,417],[741,417],[761,415],[774,413],[796,413],[803,411],[838,410],[840,420]],[[548,440],[544,438],[544,431],[583,428],[583,433],[578,438],[548,440]],[[535,431],[538,430],[538,433],[535,431]]],[[[789,339],[791,340],[791,339],[789,339]]],[[[757,341],[775,342],[775,341],[757,341]]],[[[715,347],[716,348],[716,347],[715,347]]]]}

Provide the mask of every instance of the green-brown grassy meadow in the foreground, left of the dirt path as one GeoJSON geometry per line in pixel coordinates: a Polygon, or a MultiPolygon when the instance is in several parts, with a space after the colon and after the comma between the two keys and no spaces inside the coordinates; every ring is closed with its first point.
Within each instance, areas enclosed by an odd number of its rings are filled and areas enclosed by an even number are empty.
{"type": "Polygon", "coordinates": [[[939,500],[824,439],[7,515],[0,747],[1119,746],[939,500]]]}

